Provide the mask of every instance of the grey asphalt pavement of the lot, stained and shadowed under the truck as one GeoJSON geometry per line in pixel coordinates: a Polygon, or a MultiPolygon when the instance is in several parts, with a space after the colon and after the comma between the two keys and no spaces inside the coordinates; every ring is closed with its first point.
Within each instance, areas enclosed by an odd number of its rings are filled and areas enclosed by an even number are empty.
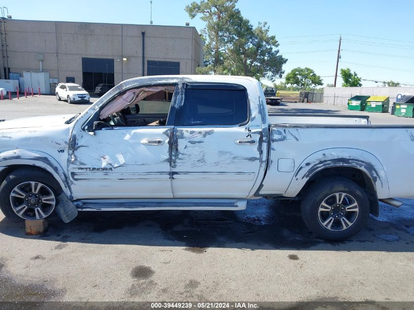
{"type": "MultiPolygon", "coordinates": [[[[87,106],[1,101],[0,119],[87,106]]],[[[305,103],[269,110],[353,114],[305,103]]],[[[380,203],[380,217],[343,242],[316,238],[297,202],[265,199],[235,212],[82,212],[68,224],[54,215],[42,236],[0,215],[0,301],[413,301],[414,200],[404,202],[380,203]]]]}

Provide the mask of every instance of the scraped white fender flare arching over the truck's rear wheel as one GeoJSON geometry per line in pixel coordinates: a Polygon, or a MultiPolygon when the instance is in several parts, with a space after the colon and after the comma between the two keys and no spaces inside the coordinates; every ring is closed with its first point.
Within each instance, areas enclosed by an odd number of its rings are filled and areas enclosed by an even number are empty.
{"type": "Polygon", "coordinates": [[[285,196],[296,196],[315,173],[330,167],[357,168],[369,176],[378,198],[388,198],[390,195],[385,169],[377,157],[357,148],[329,148],[308,156],[298,166],[285,196]]]}

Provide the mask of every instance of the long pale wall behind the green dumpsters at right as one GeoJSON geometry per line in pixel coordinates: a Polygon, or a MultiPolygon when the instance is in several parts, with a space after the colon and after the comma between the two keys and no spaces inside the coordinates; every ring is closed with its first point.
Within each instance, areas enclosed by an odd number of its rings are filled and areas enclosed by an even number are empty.
{"type": "Polygon", "coordinates": [[[397,94],[410,93],[414,95],[414,87],[325,87],[323,103],[347,105],[348,99],[356,95],[389,96],[390,103],[395,102],[397,94]]]}

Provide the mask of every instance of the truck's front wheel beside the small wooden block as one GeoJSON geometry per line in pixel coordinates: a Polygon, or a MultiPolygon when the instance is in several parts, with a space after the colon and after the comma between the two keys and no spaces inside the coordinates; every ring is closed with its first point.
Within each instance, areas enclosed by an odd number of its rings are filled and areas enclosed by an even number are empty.
{"type": "Polygon", "coordinates": [[[4,216],[14,222],[25,219],[43,219],[53,213],[57,204],[57,196],[61,192],[59,183],[48,172],[39,168],[16,169],[0,185],[0,210],[4,216]],[[26,192],[26,189],[33,189],[33,186],[37,188],[35,192],[39,197],[36,197],[34,193],[30,194],[31,197],[28,196],[31,190],[26,192]],[[24,193],[25,197],[32,200],[31,204],[30,200],[20,197],[21,193],[18,193],[16,188],[24,193]],[[13,195],[13,193],[15,194],[13,195]],[[16,196],[16,193],[19,197],[16,196]],[[40,201],[40,199],[44,200],[40,201]],[[31,206],[29,207],[28,204],[31,206]],[[20,212],[22,212],[22,216],[17,215],[20,212]]]}

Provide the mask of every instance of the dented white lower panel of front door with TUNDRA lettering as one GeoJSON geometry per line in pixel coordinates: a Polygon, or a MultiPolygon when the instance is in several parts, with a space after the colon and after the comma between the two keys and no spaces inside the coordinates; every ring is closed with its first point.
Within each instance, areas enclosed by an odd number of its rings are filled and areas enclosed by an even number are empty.
{"type": "Polygon", "coordinates": [[[76,198],[172,198],[171,134],[172,126],[79,132],[68,159],[76,198]]]}

